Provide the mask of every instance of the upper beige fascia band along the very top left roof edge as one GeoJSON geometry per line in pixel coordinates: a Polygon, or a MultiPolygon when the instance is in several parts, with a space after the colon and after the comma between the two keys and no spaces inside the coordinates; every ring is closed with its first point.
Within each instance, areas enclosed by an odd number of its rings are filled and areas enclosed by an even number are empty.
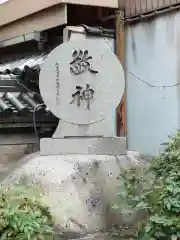
{"type": "Polygon", "coordinates": [[[9,0],[0,5],[0,26],[60,3],[116,8],[118,0],[9,0]]]}

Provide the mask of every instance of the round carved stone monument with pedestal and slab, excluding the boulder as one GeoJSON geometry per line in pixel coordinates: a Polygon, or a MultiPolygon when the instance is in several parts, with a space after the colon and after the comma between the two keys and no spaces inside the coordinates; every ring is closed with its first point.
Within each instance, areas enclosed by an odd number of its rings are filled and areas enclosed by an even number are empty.
{"type": "Polygon", "coordinates": [[[52,139],[41,139],[41,154],[124,154],[125,138],[115,137],[113,119],[124,85],[123,68],[106,42],[70,41],[53,50],[40,92],[60,121],[52,139]]]}

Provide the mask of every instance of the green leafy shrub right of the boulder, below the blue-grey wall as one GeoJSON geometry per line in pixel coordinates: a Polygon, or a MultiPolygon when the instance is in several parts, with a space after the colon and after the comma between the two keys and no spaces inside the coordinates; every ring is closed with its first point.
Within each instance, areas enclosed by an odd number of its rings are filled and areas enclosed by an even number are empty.
{"type": "Polygon", "coordinates": [[[180,132],[150,169],[131,169],[120,176],[121,192],[116,208],[122,214],[143,210],[137,223],[137,239],[180,239],[180,132]]]}

